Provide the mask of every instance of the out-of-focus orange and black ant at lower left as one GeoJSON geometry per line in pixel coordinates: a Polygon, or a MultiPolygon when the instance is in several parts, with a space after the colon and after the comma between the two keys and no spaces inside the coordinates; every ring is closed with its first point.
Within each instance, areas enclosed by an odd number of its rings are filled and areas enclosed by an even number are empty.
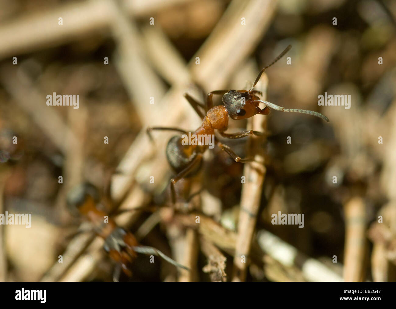
{"type": "MultiPolygon", "coordinates": [[[[130,264],[137,257],[137,253],[157,255],[172,265],[187,269],[180,265],[160,250],[149,246],[141,246],[131,232],[127,232],[117,226],[107,213],[98,209],[99,194],[97,189],[88,182],[74,187],[67,196],[67,204],[72,212],[78,212],[93,224],[95,233],[105,240],[103,248],[109,253],[110,258],[117,266],[113,274],[113,280],[118,281],[121,269],[128,277],[132,276],[130,264]],[[105,222],[105,219],[108,221],[105,222]]],[[[103,201],[102,201],[103,202],[103,201]]]]}

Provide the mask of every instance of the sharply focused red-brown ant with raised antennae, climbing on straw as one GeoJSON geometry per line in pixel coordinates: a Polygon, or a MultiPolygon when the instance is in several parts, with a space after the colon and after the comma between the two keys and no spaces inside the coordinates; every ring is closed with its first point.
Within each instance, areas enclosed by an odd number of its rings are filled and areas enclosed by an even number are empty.
{"type": "MultiPolygon", "coordinates": [[[[196,136],[214,136],[215,130],[217,130],[219,131],[221,136],[232,139],[242,138],[249,135],[262,135],[261,132],[253,130],[241,131],[237,133],[225,133],[228,127],[228,118],[231,117],[234,120],[241,120],[250,118],[256,114],[268,115],[268,113],[270,112],[270,108],[277,111],[314,115],[329,122],[329,119],[325,115],[322,115],[321,113],[318,113],[316,111],[310,111],[306,109],[287,109],[273,103],[260,100],[257,94],[262,96],[262,92],[258,90],[253,90],[261,75],[264,73],[265,69],[276,63],[290,49],[291,45],[287,46],[286,49],[278,57],[276,57],[274,61],[272,61],[272,63],[261,69],[256,77],[256,80],[254,81],[253,85],[249,90],[215,90],[209,92],[206,96],[206,106],[200,104],[199,102],[194,100],[194,98],[185,93],[185,98],[202,119],[202,125],[198,129],[196,129],[193,134],[196,134],[196,136]],[[213,106],[214,94],[223,95],[224,105],[213,106]],[[266,106],[261,109],[259,107],[260,103],[263,103],[266,106]],[[202,113],[199,107],[203,108],[205,113],[202,113]]],[[[151,139],[152,137],[150,135],[150,132],[152,130],[169,130],[188,134],[188,132],[175,127],[149,127],[147,129],[147,134],[150,136],[151,139]]],[[[219,140],[217,140],[216,138],[215,144],[220,149],[227,152],[227,154],[230,155],[230,157],[232,157],[232,159],[234,159],[236,162],[244,163],[250,161],[250,159],[242,159],[241,157],[239,157],[230,147],[219,142],[219,140]]],[[[180,179],[186,177],[188,174],[192,173],[198,168],[206,149],[208,149],[208,145],[183,145],[181,137],[173,137],[169,141],[166,148],[168,162],[171,167],[177,172],[177,175],[175,175],[175,177],[171,178],[170,180],[173,203],[175,203],[176,194],[175,184],[180,179]]]]}

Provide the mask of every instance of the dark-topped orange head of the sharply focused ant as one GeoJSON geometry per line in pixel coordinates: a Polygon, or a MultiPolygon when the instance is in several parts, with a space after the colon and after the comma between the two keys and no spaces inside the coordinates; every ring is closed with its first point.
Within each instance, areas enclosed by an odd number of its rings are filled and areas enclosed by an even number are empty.
{"type": "Polygon", "coordinates": [[[246,119],[257,114],[258,103],[251,101],[259,98],[247,90],[230,90],[223,95],[223,103],[228,116],[234,120],[246,119]]]}

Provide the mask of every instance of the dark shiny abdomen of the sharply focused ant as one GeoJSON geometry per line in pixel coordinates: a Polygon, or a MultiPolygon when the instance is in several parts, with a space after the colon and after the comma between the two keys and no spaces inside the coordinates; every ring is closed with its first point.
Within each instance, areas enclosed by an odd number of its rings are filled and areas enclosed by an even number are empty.
{"type": "MultiPolygon", "coordinates": [[[[194,160],[198,154],[197,148],[181,144],[180,136],[173,136],[169,139],[166,146],[166,157],[172,169],[179,173],[183,171],[194,160]]],[[[196,166],[188,175],[196,173],[200,168],[200,164],[196,166]]]]}

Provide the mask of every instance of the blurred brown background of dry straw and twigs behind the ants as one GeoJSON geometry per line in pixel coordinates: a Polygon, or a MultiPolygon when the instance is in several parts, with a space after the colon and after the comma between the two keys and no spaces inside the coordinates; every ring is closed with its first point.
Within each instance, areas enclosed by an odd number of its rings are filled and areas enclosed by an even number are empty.
{"type": "MultiPolygon", "coordinates": [[[[253,117],[266,122],[267,172],[243,280],[396,279],[395,1],[0,0],[0,7],[0,213],[32,213],[29,229],[0,225],[0,280],[111,280],[101,240],[67,237],[80,224],[67,192],[89,181],[121,207],[165,204],[172,134],[154,134],[154,147],[145,129],[195,130],[200,119],[183,93],[204,102],[212,90],[250,88],[288,44],[257,89],[330,123],[279,111],[253,117]],[[80,107],[46,106],[53,92],[79,94],[80,107]],[[350,109],[318,106],[325,92],[350,94],[350,109]],[[272,225],[278,211],[304,213],[305,227],[272,225]]],[[[246,124],[230,121],[230,131],[246,124]]],[[[246,140],[225,143],[244,154],[246,140]]],[[[159,220],[142,244],[189,263],[191,274],[165,262],[151,267],[143,256],[122,280],[209,281],[219,270],[236,279],[243,168],[209,151],[198,180],[202,209],[230,230],[229,244],[206,227],[194,234],[159,220]],[[210,264],[208,246],[225,265],[210,264]]],[[[148,217],[126,213],[118,224],[135,232],[148,217]]]]}

